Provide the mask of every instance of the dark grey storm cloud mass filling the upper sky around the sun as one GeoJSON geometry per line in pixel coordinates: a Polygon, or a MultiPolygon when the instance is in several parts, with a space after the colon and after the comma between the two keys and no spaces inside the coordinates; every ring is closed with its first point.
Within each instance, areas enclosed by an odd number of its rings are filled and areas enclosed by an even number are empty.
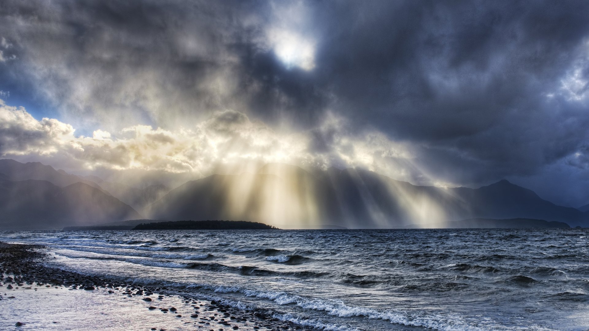
{"type": "Polygon", "coordinates": [[[555,176],[587,186],[588,7],[3,1],[0,90],[36,87],[31,98],[92,130],[172,128],[234,110],[312,130],[310,150],[325,154],[337,132],[317,123],[331,112],[349,119],[348,131],[412,144],[414,166],[426,174],[416,181],[555,176]]]}

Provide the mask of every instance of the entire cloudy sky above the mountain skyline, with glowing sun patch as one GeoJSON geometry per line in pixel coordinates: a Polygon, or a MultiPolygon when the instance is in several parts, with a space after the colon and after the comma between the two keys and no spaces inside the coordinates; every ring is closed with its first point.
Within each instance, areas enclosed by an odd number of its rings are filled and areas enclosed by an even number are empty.
{"type": "Polygon", "coordinates": [[[0,3],[0,154],[283,162],[589,203],[589,2],[0,3]]]}

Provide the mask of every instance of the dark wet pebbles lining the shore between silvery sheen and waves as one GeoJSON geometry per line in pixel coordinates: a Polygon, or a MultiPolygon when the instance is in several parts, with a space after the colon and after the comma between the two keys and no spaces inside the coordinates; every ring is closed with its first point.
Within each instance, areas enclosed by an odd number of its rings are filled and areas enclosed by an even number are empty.
{"type": "MultiPolygon", "coordinates": [[[[55,286],[56,288],[61,288],[61,286],[64,286],[68,288],[68,290],[95,290],[93,292],[95,294],[91,295],[98,295],[98,293],[105,294],[107,292],[112,294],[115,293],[115,291],[119,291],[119,293],[128,296],[129,300],[133,300],[133,295],[137,295],[146,303],[153,301],[153,299],[148,296],[153,295],[154,292],[159,292],[157,296],[158,300],[164,300],[167,299],[167,297],[178,297],[178,299],[183,300],[183,302],[186,303],[185,306],[183,304],[181,304],[181,306],[178,306],[178,309],[176,307],[162,307],[160,308],[161,312],[174,312],[177,314],[174,315],[176,317],[182,317],[183,315],[181,315],[180,313],[184,312],[188,314],[187,316],[190,316],[193,319],[200,318],[199,322],[196,322],[194,320],[193,322],[186,322],[186,319],[181,319],[180,321],[184,322],[184,324],[194,323],[194,326],[197,327],[197,329],[201,328],[203,329],[203,331],[209,330],[210,327],[213,327],[213,325],[211,325],[213,324],[213,321],[215,322],[214,325],[224,327],[224,329],[219,330],[227,330],[230,328],[233,330],[260,330],[263,327],[269,330],[312,330],[312,328],[310,327],[300,326],[292,322],[274,319],[270,317],[272,316],[272,312],[265,313],[263,310],[254,310],[254,312],[246,312],[231,306],[227,306],[226,304],[219,302],[217,300],[211,300],[210,303],[201,302],[200,300],[191,298],[190,291],[180,291],[186,294],[178,296],[168,293],[162,293],[164,290],[167,290],[165,287],[154,288],[145,286],[142,288],[137,285],[131,286],[120,283],[112,283],[112,281],[108,279],[102,279],[100,277],[95,276],[86,276],[75,272],[68,272],[65,270],[57,269],[55,267],[44,266],[42,264],[37,263],[37,261],[46,257],[45,254],[39,252],[38,250],[31,250],[39,248],[43,247],[37,245],[0,243],[0,281],[4,283],[4,285],[6,286],[5,289],[12,289],[13,287],[11,283],[18,286],[25,286],[24,284],[36,283],[39,287],[45,286],[45,284],[53,284],[47,285],[47,287],[55,286]],[[15,270],[17,271],[15,272],[15,270]],[[5,274],[14,274],[14,278],[9,277],[7,275],[5,276],[5,274]],[[100,290],[100,287],[104,287],[104,292],[100,290]],[[200,307],[202,307],[202,309],[200,309],[200,307]],[[195,311],[193,309],[196,310],[198,314],[194,313],[195,311]],[[253,317],[257,318],[253,319],[253,317]],[[231,324],[229,323],[229,320],[231,321],[231,324]],[[264,320],[264,322],[260,322],[260,320],[264,320]]],[[[0,297],[0,299],[2,298],[0,297]]],[[[15,297],[10,296],[7,299],[15,299],[15,297]]],[[[141,300],[137,300],[137,303],[143,306],[143,304],[141,304],[140,302],[141,300]]],[[[143,309],[145,309],[145,306],[143,307],[143,309]]],[[[154,306],[149,306],[147,307],[147,309],[155,310],[158,308],[154,306]]],[[[161,316],[160,319],[162,322],[169,320],[169,318],[171,317],[166,316],[165,314],[154,316],[161,316]]],[[[18,323],[21,323],[20,325],[24,325],[24,323],[22,322],[18,323]]],[[[16,326],[19,326],[18,323],[16,324],[16,326]]],[[[174,328],[172,326],[169,327],[171,329],[174,328]]],[[[158,328],[153,327],[151,328],[151,330],[158,330],[158,328]]],[[[165,330],[165,328],[161,328],[160,330],[165,330]]]]}

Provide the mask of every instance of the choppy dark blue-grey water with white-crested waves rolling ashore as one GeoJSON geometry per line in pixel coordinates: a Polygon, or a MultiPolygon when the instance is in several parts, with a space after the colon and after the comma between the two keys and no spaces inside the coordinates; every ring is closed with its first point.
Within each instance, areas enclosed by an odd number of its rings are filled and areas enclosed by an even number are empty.
{"type": "Polygon", "coordinates": [[[1,231],[48,265],[324,330],[588,330],[589,229],[1,231]]]}

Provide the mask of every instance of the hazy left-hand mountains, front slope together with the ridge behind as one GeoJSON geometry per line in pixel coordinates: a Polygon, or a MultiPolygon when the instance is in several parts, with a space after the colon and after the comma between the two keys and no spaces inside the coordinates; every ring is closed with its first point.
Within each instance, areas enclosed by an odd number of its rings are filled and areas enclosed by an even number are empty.
{"type": "Polygon", "coordinates": [[[96,176],[78,177],[38,162],[20,163],[11,159],[0,160],[0,181],[14,183],[0,186],[0,195],[4,193],[6,199],[0,204],[4,206],[0,207],[0,225],[5,229],[57,229],[64,225],[141,219],[137,210],[149,206],[170,190],[163,185],[134,188],[109,183],[96,176]],[[23,181],[27,183],[21,183],[23,181]],[[11,190],[19,193],[10,193],[11,190]],[[69,194],[71,191],[77,194],[69,194]],[[57,196],[61,200],[55,200],[57,196]],[[19,217],[24,221],[20,222],[19,217]]]}

